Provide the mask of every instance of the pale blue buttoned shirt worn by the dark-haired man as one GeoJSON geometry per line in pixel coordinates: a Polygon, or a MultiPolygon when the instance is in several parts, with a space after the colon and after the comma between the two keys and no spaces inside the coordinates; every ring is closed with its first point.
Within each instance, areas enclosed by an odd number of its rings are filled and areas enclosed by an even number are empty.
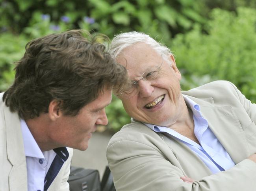
{"type": "Polygon", "coordinates": [[[27,164],[28,191],[43,191],[45,176],[54,160],[53,150],[42,152],[26,122],[20,120],[27,164]]]}

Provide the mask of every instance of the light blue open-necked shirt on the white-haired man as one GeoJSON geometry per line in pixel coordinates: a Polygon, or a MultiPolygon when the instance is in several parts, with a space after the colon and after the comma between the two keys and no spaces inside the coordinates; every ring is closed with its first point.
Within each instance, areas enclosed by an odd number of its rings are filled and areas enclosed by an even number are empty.
{"type": "Polygon", "coordinates": [[[186,144],[194,153],[197,154],[213,174],[233,167],[235,165],[234,161],[208,127],[208,122],[202,116],[199,105],[187,96],[183,95],[183,97],[187,106],[189,106],[193,112],[195,125],[194,133],[201,145],[198,145],[193,140],[181,135],[173,129],[152,124],[144,124],[155,132],[167,133],[169,136],[186,144]]]}

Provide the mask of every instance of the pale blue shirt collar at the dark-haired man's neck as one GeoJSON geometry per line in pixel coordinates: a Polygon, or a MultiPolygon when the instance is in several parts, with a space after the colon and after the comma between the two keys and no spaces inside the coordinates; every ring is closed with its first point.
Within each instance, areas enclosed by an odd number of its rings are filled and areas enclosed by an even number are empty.
{"type": "Polygon", "coordinates": [[[20,126],[22,130],[25,155],[30,157],[35,157],[35,158],[45,158],[41,149],[37,145],[35,138],[33,137],[32,133],[28,129],[28,126],[25,120],[20,119],[20,126]]]}

